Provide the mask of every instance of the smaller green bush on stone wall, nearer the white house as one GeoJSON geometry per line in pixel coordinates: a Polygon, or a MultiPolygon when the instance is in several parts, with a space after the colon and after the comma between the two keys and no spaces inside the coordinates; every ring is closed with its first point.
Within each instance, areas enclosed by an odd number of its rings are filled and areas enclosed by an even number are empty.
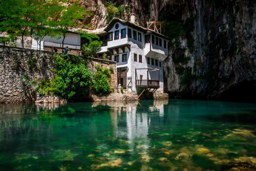
{"type": "Polygon", "coordinates": [[[113,72],[112,69],[103,68],[102,66],[97,65],[96,74],[93,84],[93,90],[96,94],[103,96],[110,92],[112,92],[112,88],[110,86],[110,75],[113,72]]]}

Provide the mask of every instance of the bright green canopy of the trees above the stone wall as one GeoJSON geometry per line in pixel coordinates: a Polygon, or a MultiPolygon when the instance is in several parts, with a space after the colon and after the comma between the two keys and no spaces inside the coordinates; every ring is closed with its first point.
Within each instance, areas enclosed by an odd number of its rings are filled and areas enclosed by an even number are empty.
{"type": "Polygon", "coordinates": [[[75,27],[84,15],[91,15],[78,1],[65,5],[65,0],[2,0],[0,3],[0,31],[12,37],[33,35],[40,45],[41,40],[53,33],[65,37],[71,27],[75,27]],[[55,28],[55,29],[52,29],[55,28]]]}

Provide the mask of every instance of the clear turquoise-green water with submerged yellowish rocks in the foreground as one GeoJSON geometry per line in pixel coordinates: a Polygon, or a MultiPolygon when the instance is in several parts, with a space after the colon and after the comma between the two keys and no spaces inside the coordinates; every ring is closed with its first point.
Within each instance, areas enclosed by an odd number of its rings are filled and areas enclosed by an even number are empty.
{"type": "Polygon", "coordinates": [[[255,169],[256,104],[0,104],[0,170],[255,169]]]}

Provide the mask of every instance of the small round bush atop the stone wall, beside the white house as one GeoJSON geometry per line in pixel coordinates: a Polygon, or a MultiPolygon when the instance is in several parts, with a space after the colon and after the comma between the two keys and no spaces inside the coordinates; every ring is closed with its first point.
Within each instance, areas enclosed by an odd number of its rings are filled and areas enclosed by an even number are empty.
{"type": "Polygon", "coordinates": [[[82,53],[86,57],[95,57],[101,50],[102,41],[94,40],[82,46],[82,53]]]}

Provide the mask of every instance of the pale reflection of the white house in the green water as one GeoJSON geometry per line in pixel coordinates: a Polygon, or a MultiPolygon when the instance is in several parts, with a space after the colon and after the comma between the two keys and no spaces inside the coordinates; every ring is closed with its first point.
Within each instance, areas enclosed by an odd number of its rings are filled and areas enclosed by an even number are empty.
{"type": "Polygon", "coordinates": [[[109,105],[113,109],[111,113],[112,125],[118,139],[127,139],[130,149],[137,147],[147,148],[150,142],[148,132],[151,126],[162,125],[164,120],[164,105],[168,99],[129,102],[95,102],[94,105],[109,105]],[[153,122],[151,118],[159,118],[153,122]],[[139,144],[138,144],[139,143],[139,144]]]}

